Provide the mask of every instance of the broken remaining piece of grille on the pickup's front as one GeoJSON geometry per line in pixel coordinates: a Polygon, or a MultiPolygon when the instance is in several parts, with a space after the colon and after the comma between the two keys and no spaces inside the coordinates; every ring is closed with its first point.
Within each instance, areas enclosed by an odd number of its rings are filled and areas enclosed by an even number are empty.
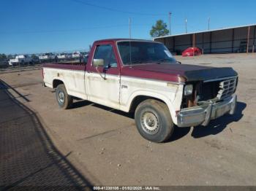
{"type": "Polygon", "coordinates": [[[219,83],[217,98],[226,98],[232,95],[236,90],[236,78],[226,79],[219,83]]]}

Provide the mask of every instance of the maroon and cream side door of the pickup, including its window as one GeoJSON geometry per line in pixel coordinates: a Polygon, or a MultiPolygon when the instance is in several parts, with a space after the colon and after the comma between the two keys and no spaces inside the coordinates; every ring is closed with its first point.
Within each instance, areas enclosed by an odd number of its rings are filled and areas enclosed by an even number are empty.
{"type": "Polygon", "coordinates": [[[86,93],[89,101],[119,109],[120,69],[113,42],[95,44],[94,55],[86,68],[86,93]],[[103,59],[104,66],[94,66],[103,59]],[[106,69],[106,66],[108,69],[106,69]]]}

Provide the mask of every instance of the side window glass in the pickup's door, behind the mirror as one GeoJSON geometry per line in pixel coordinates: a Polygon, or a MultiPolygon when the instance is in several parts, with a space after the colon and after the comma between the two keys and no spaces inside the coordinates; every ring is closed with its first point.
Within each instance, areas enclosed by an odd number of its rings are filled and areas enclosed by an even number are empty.
{"type": "Polygon", "coordinates": [[[104,66],[117,68],[116,56],[113,52],[113,47],[110,44],[103,44],[96,47],[94,59],[103,59],[104,66]]]}

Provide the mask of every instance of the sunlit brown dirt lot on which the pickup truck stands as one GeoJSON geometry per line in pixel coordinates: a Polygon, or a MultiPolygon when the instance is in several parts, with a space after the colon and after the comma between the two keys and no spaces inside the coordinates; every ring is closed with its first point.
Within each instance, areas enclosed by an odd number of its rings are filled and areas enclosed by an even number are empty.
{"type": "Polygon", "coordinates": [[[32,109],[63,155],[91,184],[256,185],[256,54],[176,57],[182,63],[231,66],[239,74],[235,115],[208,127],[176,128],[165,144],[143,139],[132,116],[78,101],[59,109],[41,71],[1,74],[32,109]]]}

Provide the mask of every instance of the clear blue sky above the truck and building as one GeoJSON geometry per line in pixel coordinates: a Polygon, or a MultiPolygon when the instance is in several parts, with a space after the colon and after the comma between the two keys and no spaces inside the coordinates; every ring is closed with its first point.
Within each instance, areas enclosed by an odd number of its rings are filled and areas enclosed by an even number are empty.
{"type": "MultiPolygon", "coordinates": [[[[171,34],[256,23],[255,0],[0,0],[0,53],[89,50],[97,39],[152,39],[168,21],[171,34]],[[192,3],[194,2],[194,3],[192,3]]],[[[169,26],[167,27],[169,28],[169,26]]]]}

